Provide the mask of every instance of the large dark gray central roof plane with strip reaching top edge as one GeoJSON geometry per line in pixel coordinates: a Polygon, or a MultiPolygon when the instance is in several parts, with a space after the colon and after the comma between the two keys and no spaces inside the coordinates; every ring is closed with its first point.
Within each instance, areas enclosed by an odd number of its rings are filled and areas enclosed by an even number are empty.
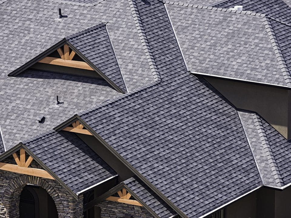
{"type": "Polygon", "coordinates": [[[199,217],[262,181],[236,110],[186,72],[164,5],[135,3],[161,82],[80,116],[186,216],[199,217]]]}

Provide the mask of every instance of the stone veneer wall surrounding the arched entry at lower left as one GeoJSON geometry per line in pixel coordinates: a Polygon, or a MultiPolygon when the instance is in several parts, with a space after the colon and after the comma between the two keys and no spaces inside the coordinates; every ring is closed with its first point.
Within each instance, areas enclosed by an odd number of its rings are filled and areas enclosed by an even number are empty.
{"type": "Polygon", "coordinates": [[[0,217],[19,217],[20,193],[26,184],[44,188],[55,202],[59,218],[82,218],[83,196],[76,200],[56,180],[0,170],[0,217]]]}

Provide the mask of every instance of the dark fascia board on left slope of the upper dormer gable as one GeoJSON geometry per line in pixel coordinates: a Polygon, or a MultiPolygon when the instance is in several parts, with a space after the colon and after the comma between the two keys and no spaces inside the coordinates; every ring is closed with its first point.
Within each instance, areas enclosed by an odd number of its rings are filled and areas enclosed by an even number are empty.
{"type": "Polygon", "coordinates": [[[56,49],[60,48],[62,45],[65,45],[65,39],[62,39],[57,44],[53,45],[51,48],[47,49],[46,51],[42,52],[32,60],[28,61],[26,64],[23,64],[21,67],[17,68],[16,70],[12,71],[10,74],[8,74],[8,77],[14,77],[20,74],[22,71],[26,70],[27,68],[31,67],[33,64],[40,61],[42,58],[45,58],[48,56],[52,51],[55,51],[56,49]]]}

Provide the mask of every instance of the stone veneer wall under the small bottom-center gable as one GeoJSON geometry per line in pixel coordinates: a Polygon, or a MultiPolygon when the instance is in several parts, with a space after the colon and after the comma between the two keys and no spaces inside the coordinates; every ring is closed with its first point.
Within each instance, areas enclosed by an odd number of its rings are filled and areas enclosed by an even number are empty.
{"type": "Polygon", "coordinates": [[[125,214],[130,214],[133,218],[154,218],[146,208],[141,206],[107,200],[100,202],[96,206],[101,208],[101,218],[123,218],[125,214]]]}

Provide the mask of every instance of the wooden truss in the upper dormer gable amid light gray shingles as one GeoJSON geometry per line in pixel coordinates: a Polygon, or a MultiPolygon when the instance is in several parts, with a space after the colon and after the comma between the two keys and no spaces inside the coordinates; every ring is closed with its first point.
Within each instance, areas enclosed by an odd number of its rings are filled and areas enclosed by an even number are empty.
{"type": "Polygon", "coordinates": [[[68,45],[64,45],[64,50],[62,48],[57,49],[61,58],[45,57],[42,60],[38,61],[39,63],[44,64],[53,64],[64,67],[79,68],[84,70],[93,70],[86,62],[84,61],[73,61],[72,59],[75,56],[75,51],[71,51],[68,45]]]}

